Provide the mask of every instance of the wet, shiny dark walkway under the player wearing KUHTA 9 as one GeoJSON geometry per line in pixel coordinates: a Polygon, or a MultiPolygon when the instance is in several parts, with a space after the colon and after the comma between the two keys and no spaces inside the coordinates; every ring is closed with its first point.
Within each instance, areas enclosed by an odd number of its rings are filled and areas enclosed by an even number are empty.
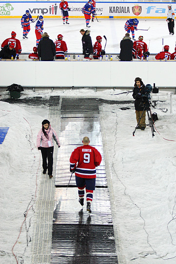
{"type": "Polygon", "coordinates": [[[56,162],[51,263],[117,264],[98,100],[63,98],[60,121],[61,147],[56,162]],[[90,145],[102,155],[90,216],[86,211],[86,198],[83,209],[78,202],[75,174],[68,186],[70,155],[75,148],[82,146],[84,136],[89,137],[90,145]]]}

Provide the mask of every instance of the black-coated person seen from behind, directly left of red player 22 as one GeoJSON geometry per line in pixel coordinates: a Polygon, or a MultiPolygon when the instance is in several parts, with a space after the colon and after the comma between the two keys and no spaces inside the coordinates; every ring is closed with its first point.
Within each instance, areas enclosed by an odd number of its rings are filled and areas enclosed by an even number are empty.
{"type": "Polygon", "coordinates": [[[48,33],[43,33],[38,45],[38,54],[41,61],[53,61],[56,56],[56,47],[52,40],[49,39],[48,33]]]}

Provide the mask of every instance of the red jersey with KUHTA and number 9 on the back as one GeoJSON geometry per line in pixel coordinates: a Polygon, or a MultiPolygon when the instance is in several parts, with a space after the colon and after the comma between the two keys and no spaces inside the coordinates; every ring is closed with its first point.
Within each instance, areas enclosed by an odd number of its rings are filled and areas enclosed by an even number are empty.
{"type": "Polygon", "coordinates": [[[76,148],[70,157],[70,168],[76,168],[75,175],[81,178],[96,178],[96,167],[100,163],[101,154],[89,145],[76,148]]]}

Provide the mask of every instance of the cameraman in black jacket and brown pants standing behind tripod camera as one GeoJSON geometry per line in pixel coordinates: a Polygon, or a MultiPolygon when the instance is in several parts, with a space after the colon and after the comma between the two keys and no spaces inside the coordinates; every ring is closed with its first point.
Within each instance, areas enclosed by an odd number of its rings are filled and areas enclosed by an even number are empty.
{"type": "Polygon", "coordinates": [[[142,82],[142,79],[137,77],[135,79],[135,87],[133,89],[133,98],[135,99],[135,110],[136,110],[136,118],[137,118],[137,124],[140,122],[137,126],[137,129],[145,130],[146,124],[145,124],[145,113],[146,110],[143,112],[143,107],[142,107],[142,94],[145,94],[145,85],[142,82]],[[142,114],[143,112],[143,114],[142,114]]]}

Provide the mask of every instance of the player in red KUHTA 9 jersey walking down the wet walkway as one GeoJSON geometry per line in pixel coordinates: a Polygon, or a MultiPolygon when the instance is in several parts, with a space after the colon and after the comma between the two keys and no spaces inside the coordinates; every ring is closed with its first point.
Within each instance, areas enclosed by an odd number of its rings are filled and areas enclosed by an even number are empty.
{"type": "Polygon", "coordinates": [[[87,211],[91,213],[91,202],[96,185],[96,167],[101,163],[101,154],[89,145],[85,136],[83,146],[76,148],[70,157],[70,171],[75,172],[78,187],[79,203],[84,205],[84,189],[86,189],[87,211]]]}

